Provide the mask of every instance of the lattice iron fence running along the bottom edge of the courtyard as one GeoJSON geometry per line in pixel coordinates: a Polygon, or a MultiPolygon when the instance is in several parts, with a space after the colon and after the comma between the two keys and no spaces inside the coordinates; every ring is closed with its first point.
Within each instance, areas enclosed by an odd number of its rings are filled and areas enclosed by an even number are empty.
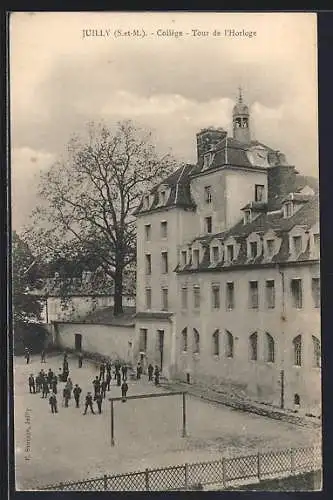
{"type": "Polygon", "coordinates": [[[292,476],[322,468],[321,448],[291,448],[196,462],[139,472],[115,474],[43,488],[57,491],[167,491],[191,490],[205,485],[224,489],[237,482],[292,476]]]}

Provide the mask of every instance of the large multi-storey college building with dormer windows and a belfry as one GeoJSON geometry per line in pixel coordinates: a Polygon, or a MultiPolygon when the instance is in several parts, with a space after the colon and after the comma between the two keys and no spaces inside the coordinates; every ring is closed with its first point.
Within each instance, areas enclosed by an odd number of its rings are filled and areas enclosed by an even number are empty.
{"type": "Polygon", "coordinates": [[[241,93],[232,120],[232,137],[201,130],[197,163],[137,209],[135,357],[318,413],[318,181],[251,139],[241,93]]]}

